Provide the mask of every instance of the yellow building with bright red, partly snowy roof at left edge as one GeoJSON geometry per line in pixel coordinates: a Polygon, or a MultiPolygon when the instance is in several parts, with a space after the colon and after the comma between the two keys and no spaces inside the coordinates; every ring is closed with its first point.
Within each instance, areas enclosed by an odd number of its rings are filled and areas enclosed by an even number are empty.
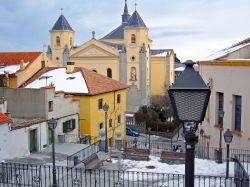
{"type": "Polygon", "coordinates": [[[43,67],[56,64],[42,52],[0,53],[0,86],[17,88],[43,67]]]}

